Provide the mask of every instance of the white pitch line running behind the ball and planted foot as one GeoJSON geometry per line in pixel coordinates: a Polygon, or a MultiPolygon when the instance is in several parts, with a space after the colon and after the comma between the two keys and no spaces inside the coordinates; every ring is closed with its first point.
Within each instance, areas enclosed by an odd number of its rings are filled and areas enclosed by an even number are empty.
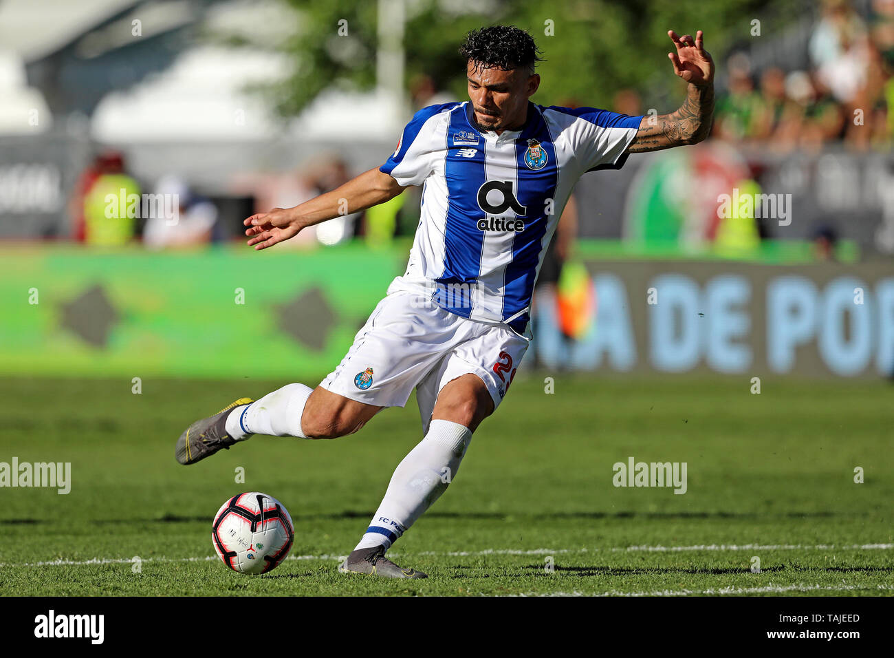
{"type": "MultiPolygon", "coordinates": [[[[814,545],[805,545],[805,544],[794,544],[794,543],[779,543],[779,544],[759,544],[759,543],[744,543],[744,544],[696,544],[693,546],[649,546],[649,545],[641,545],[641,546],[626,546],[626,547],[612,547],[607,549],[587,549],[587,548],[579,548],[579,549],[529,549],[527,551],[522,551],[520,549],[485,549],[484,551],[417,551],[417,552],[399,552],[394,551],[391,553],[393,557],[408,557],[408,556],[426,556],[426,557],[484,557],[487,555],[561,555],[566,553],[586,553],[586,552],[636,552],[636,551],[645,551],[645,552],[684,552],[684,551],[890,551],[894,549],[894,543],[854,543],[854,544],[842,544],[840,546],[835,544],[814,544],[814,545]]],[[[322,555],[290,555],[286,560],[344,560],[345,555],[334,555],[329,553],[324,553],[322,555]]],[[[203,562],[208,560],[217,560],[216,555],[206,555],[202,557],[191,557],[191,558],[166,558],[166,557],[156,557],[156,558],[140,558],[141,562],[203,562]]],[[[95,564],[131,564],[134,562],[133,558],[91,558],[89,560],[45,560],[40,562],[0,562],[0,568],[3,567],[81,567],[81,566],[89,566],[95,564]]]]}

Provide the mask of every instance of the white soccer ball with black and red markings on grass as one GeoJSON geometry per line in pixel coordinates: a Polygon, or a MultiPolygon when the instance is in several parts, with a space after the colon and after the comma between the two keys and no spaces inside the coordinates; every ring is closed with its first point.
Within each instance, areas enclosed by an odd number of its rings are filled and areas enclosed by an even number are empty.
{"type": "Polygon", "coordinates": [[[215,514],[211,541],[223,564],[242,574],[265,574],[285,560],[295,539],[288,510],[266,493],[227,500],[215,514]]]}

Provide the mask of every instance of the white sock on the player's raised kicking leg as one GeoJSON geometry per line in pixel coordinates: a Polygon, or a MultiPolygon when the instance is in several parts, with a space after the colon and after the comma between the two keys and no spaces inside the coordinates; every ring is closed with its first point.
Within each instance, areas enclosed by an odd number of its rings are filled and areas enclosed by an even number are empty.
{"type": "Polygon", "coordinates": [[[226,417],[226,433],[238,441],[252,434],[307,439],[301,432],[301,414],[312,391],[304,384],[286,384],[250,405],[237,406],[226,417]]]}

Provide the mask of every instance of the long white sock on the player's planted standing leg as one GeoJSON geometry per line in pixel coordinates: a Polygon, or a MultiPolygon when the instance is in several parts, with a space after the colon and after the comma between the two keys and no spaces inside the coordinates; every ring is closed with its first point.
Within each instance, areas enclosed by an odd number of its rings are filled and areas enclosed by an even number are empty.
{"type": "Polygon", "coordinates": [[[451,421],[432,421],[426,438],[395,469],[388,491],[354,549],[388,549],[432,506],[456,477],[472,432],[451,421]]]}

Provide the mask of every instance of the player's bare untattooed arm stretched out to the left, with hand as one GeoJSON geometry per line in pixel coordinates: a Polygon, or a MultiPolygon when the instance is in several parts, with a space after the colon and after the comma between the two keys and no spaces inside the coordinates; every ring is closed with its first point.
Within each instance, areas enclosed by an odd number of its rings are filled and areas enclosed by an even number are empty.
{"type": "Polygon", "coordinates": [[[405,189],[375,167],[294,208],[274,208],[252,215],[243,222],[249,226],[245,235],[256,251],[266,249],[298,235],[308,226],[389,201],[405,189]]]}

